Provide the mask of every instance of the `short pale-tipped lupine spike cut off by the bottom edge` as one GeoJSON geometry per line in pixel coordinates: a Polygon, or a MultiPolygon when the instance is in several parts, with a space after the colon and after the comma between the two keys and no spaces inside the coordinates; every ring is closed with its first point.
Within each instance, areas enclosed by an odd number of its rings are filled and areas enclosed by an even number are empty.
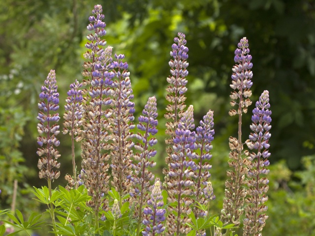
{"type": "Polygon", "coordinates": [[[143,236],[156,236],[162,234],[165,230],[163,221],[165,220],[165,209],[161,209],[164,205],[163,197],[161,193],[161,182],[159,178],[156,179],[154,188],[152,190],[151,199],[148,200],[148,205],[152,207],[146,207],[144,209],[144,214],[146,217],[142,221],[145,225],[144,231],[142,231],[143,236]]]}

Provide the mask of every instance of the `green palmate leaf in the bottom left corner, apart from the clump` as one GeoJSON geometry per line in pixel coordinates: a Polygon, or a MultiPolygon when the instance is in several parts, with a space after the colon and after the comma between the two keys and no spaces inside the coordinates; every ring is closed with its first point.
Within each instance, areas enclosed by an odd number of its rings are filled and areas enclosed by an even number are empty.
{"type": "Polygon", "coordinates": [[[37,214],[35,212],[32,212],[32,214],[30,215],[30,217],[28,218],[27,221],[24,221],[24,217],[21,213],[21,211],[19,211],[18,209],[15,211],[16,215],[18,218],[16,218],[14,215],[10,214],[10,213],[6,213],[6,215],[13,221],[8,221],[8,220],[2,220],[3,222],[12,225],[16,228],[19,228],[20,230],[17,230],[11,234],[9,234],[8,236],[12,236],[15,235],[21,231],[27,231],[27,230],[38,230],[41,229],[40,227],[38,227],[40,224],[43,224],[45,221],[43,219],[40,219],[42,214],[37,214]]]}

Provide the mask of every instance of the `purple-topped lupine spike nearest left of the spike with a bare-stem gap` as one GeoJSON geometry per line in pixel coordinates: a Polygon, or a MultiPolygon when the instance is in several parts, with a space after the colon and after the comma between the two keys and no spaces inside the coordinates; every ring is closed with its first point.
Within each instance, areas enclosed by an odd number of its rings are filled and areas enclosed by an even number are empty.
{"type": "MultiPolygon", "coordinates": [[[[213,126],[213,111],[209,110],[208,113],[203,117],[203,121],[200,121],[200,126],[196,129],[195,136],[196,144],[200,149],[200,155],[196,153],[196,159],[199,159],[199,165],[197,166],[195,174],[198,180],[195,187],[195,196],[196,202],[204,205],[207,205],[209,200],[215,199],[215,196],[213,195],[213,189],[212,195],[210,197],[211,191],[209,189],[210,187],[208,186],[208,184],[211,183],[208,179],[211,176],[209,170],[212,168],[212,166],[208,162],[205,162],[204,164],[202,163],[204,160],[210,161],[212,158],[210,153],[212,150],[211,142],[213,140],[213,135],[215,134],[213,126]]],[[[194,214],[197,218],[199,216],[204,216],[206,212],[202,212],[198,207],[195,207],[194,214]]]]}

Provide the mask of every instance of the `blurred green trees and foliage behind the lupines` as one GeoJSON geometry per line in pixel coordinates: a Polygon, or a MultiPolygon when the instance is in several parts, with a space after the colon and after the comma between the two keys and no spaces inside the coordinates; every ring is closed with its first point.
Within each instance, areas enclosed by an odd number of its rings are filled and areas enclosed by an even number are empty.
{"type": "MultiPolygon", "coordinates": [[[[95,4],[103,6],[107,45],[126,55],[135,117],[148,97],[157,97],[159,176],[166,156],[169,51],[177,33],[186,34],[187,104],[194,105],[196,124],[209,109],[215,114],[214,214],[222,206],[228,137],[237,135],[236,117],[227,114],[234,50],[242,37],[249,39],[252,101],[269,90],[273,119],[264,235],[315,235],[314,0],[0,0],[0,208],[10,207],[14,179],[19,182],[19,209],[28,213],[40,207],[30,194],[30,186],[46,184],[37,175],[38,94],[49,70],[55,69],[63,116],[69,84],[83,79],[86,26],[95,4]]],[[[253,106],[243,116],[244,141],[253,106]]],[[[70,136],[58,138],[64,176],[72,171],[70,136]]],[[[80,169],[79,146],[76,152],[80,169]]],[[[65,185],[63,177],[53,186],[59,184],[65,185]]]]}

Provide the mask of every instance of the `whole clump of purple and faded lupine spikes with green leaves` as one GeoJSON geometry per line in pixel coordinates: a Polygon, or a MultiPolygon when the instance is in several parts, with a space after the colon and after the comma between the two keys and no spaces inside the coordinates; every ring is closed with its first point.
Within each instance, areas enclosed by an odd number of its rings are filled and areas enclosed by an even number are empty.
{"type": "MultiPolygon", "coordinates": [[[[252,133],[242,140],[242,116],[252,101],[252,56],[246,37],[238,43],[232,68],[234,90],[230,98],[237,109],[229,115],[238,116],[238,136],[229,138],[231,152],[228,161],[225,198],[221,219],[211,210],[216,199],[211,176],[211,142],[214,140],[214,112],[209,110],[195,129],[193,105],[186,109],[188,90],[188,47],[185,34],[179,33],[171,46],[171,75],[166,91],[168,105],[164,117],[166,167],[164,182],[151,172],[157,154],[152,148],[158,139],[157,99],[151,97],[138,124],[133,124],[135,112],[130,72],[123,54],[114,54],[105,47],[106,35],[101,5],[95,5],[89,17],[89,40],[84,53],[82,82],[70,85],[64,118],[63,134],[72,140],[73,175],[65,175],[66,188],[52,189],[51,182],[60,176],[56,147],[60,141],[59,94],[54,70],[44,81],[39,95],[37,119],[40,146],[39,177],[48,181],[48,188],[35,188],[36,200],[48,205],[52,231],[56,236],[233,236],[244,221],[243,236],[260,236],[268,216],[265,214],[269,170],[269,138],[271,111],[269,93],[264,91],[255,103],[252,133]],[[132,133],[135,127],[139,130],[132,133]],[[74,155],[74,140],[81,142],[81,159],[74,155]],[[76,163],[81,162],[81,167],[76,163]],[[78,170],[80,169],[80,170],[78,170]],[[244,206],[245,204],[245,206],[244,206]],[[244,214],[245,211],[245,214],[244,214]],[[244,216],[245,215],[245,216],[244,216]]],[[[211,104],[209,104],[211,106],[211,104]]],[[[215,157],[218,158],[218,157],[215,157]]],[[[0,191],[1,192],[1,191],[0,191]]],[[[28,230],[38,229],[41,215],[31,215],[27,223],[20,211],[0,211],[12,221],[5,221],[28,230]]],[[[4,226],[0,227],[2,232],[4,226]]],[[[29,234],[29,233],[28,233],[29,234]]]]}

